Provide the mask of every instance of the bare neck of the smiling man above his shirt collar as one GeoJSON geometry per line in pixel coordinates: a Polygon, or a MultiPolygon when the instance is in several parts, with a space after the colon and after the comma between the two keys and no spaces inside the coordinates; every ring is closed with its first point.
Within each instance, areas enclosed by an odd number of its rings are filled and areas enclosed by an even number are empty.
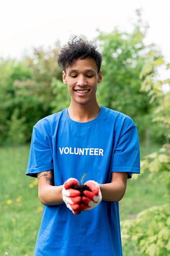
{"type": "Polygon", "coordinates": [[[96,103],[94,104],[76,104],[70,103],[68,108],[69,117],[76,122],[84,123],[95,119],[100,112],[100,106],[96,103]]]}

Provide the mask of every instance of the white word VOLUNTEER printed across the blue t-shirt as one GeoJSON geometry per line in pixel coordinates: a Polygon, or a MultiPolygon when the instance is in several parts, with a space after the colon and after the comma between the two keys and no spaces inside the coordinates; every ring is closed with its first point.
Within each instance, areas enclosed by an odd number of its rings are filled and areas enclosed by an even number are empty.
{"type": "Polygon", "coordinates": [[[62,147],[59,148],[60,154],[75,154],[75,155],[90,155],[90,156],[102,156],[103,157],[103,149],[102,148],[72,148],[72,147],[62,147]]]}

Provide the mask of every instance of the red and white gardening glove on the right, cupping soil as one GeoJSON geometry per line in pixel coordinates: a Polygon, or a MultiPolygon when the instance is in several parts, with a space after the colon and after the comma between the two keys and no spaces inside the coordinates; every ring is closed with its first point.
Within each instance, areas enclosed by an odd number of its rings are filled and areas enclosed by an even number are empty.
{"type": "Polygon", "coordinates": [[[80,204],[81,211],[88,211],[95,208],[102,201],[102,194],[99,184],[94,180],[88,180],[85,182],[91,191],[84,190],[82,197],[82,203],[80,204]]]}

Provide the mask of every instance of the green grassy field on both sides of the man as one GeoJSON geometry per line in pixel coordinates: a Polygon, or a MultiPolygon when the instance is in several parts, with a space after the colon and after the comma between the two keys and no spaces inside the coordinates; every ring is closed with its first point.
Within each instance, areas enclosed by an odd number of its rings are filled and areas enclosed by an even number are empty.
{"type": "MultiPolygon", "coordinates": [[[[151,150],[152,152],[157,150],[157,145],[152,145],[151,150]]],[[[145,154],[143,145],[141,145],[141,153],[143,157],[145,154]]],[[[36,179],[25,175],[28,155],[29,145],[0,148],[1,256],[33,256],[42,205],[37,196],[37,186],[33,183],[36,179]]],[[[136,213],[147,207],[168,201],[168,198],[163,197],[166,187],[147,183],[146,177],[147,173],[139,175],[137,180],[128,180],[125,196],[119,204],[121,220],[133,218],[136,213]]]]}

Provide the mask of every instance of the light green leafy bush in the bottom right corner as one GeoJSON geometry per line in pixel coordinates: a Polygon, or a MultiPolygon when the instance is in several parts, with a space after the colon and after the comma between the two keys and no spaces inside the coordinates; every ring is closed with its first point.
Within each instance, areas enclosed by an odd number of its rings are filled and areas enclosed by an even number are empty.
{"type": "Polygon", "coordinates": [[[141,256],[168,256],[170,251],[170,205],[152,206],[136,219],[121,222],[122,244],[135,241],[141,256]]]}

